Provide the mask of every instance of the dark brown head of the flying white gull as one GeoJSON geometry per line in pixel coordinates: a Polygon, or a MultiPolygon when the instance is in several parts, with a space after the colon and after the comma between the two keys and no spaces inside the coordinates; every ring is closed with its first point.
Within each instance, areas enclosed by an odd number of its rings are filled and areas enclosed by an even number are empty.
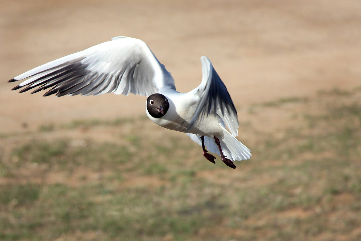
{"type": "Polygon", "coordinates": [[[169,109],[169,101],[162,94],[149,95],[147,99],[147,110],[149,115],[154,118],[160,118],[167,113],[169,109]]]}

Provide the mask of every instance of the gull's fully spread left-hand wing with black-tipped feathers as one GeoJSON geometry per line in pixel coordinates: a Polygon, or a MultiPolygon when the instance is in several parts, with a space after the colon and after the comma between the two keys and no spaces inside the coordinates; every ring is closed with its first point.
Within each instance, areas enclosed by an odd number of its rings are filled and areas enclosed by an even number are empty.
{"type": "Polygon", "coordinates": [[[115,37],[10,79],[25,80],[13,90],[48,90],[44,96],[114,94],[151,95],[163,87],[175,89],[171,74],[147,44],[129,37],[115,37]],[[26,79],[26,80],[25,80],[26,79]]]}

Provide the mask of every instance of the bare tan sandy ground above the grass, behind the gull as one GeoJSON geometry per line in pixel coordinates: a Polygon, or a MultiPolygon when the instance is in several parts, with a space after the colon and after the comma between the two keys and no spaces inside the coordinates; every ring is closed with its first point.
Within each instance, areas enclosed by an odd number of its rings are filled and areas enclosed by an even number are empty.
{"type": "Polygon", "coordinates": [[[140,96],[43,98],[10,91],[16,83],[6,82],[113,36],[144,40],[181,92],[199,85],[200,56],[209,57],[238,109],[361,85],[358,0],[2,0],[0,6],[0,134],[144,116],[140,96]]]}

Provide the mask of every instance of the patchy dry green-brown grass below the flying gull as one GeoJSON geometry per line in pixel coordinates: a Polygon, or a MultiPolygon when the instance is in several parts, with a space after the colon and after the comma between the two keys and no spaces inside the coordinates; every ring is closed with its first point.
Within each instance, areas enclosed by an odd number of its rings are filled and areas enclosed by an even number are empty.
{"type": "Polygon", "coordinates": [[[360,240],[360,90],[240,116],[235,170],[144,118],[2,135],[0,239],[360,240]]]}

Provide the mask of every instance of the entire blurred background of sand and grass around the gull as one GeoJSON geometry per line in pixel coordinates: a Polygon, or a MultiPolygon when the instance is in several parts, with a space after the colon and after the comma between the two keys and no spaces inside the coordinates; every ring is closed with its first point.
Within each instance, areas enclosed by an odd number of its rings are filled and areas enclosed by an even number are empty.
{"type": "Polygon", "coordinates": [[[360,240],[360,1],[0,6],[1,240],[360,240]],[[144,40],[180,92],[207,56],[251,160],[208,162],[148,120],[144,96],[6,82],[114,36],[144,40]]]}

